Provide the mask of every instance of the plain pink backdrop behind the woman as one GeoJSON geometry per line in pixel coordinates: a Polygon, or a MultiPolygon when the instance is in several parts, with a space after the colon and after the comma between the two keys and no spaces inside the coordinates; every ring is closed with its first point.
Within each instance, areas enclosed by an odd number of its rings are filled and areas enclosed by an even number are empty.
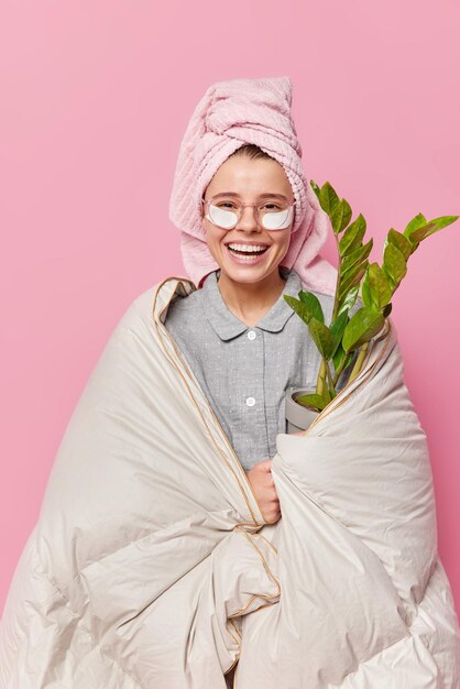
{"type": "MultiPolygon", "coordinates": [[[[105,343],[135,296],[185,274],[168,200],[208,86],[291,76],[306,174],[364,215],[380,261],[390,227],[460,214],[459,29],[458,0],[2,0],[0,611],[105,343]]],[[[458,610],[459,237],[420,245],[392,314],[458,610]]]]}

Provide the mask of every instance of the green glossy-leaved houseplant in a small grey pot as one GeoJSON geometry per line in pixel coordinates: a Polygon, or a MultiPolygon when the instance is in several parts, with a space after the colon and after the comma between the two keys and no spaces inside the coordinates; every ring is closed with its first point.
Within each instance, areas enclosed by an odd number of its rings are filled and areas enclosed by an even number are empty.
{"type": "MultiPolygon", "coordinates": [[[[291,429],[307,428],[337,395],[340,374],[354,359],[347,382],[359,374],[369,343],[383,328],[392,310],[392,297],[407,273],[407,261],[420,242],[440,229],[454,222],[459,216],[441,216],[427,220],[417,214],[404,232],[391,228],[383,247],[382,265],[369,263],[373,247],[372,238],[364,243],[366,222],[359,216],[352,221],[350,204],[339,198],[329,182],[319,187],[313,179],[310,185],[321,208],[328,214],[339,254],[339,265],[332,314],[329,325],[325,322],[318,297],[302,289],[298,298],[284,295],[284,299],[304,320],[321,356],[316,390],[292,389],[286,394],[288,408],[298,418],[300,405],[306,413],[304,423],[293,422],[291,429]],[[362,306],[350,317],[349,311],[360,298],[362,306]],[[331,370],[331,365],[332,369],[331,370]],[[304,392],[304,394],[302,394],[304,392]],[[307,394],[305,394],[305,392],[307,394]]],[[[287,419],[289,420],[289,419],[287,419]]],[[[288,433],[289,433],[288,423],[288,433]]]]}

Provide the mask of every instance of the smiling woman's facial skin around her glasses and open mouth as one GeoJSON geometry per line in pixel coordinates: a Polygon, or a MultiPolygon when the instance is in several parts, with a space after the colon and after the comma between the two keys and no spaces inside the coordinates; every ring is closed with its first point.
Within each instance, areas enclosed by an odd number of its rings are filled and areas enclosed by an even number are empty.
{"type": "MultiPolygon", "coordinates": [[[[227,158],[216,172],[204,194],[210,199],[217,194],[238,194],[243,204],[256,204],[262,198],[275,203],[266,195],[282,195],[291,204],[294,195],[283,166],[273,158],[250,158],[234,155],[227,158]]],[[[223,230],[207,218],[202,218],[206,240],[212,258],[219,264],[221,274],[237,283],[254,283],[271,276],[278,280],[278,265],[289,248],[291,225],[282,230],[265,230],[259,227],[254,208],[247,207],[237,226],[223,230]],[[228,244],[266,245],[265,252],[256,262],[233,254],[228,244]]],[[[252,254],[251,254],[252,255],[252,254]]]]}

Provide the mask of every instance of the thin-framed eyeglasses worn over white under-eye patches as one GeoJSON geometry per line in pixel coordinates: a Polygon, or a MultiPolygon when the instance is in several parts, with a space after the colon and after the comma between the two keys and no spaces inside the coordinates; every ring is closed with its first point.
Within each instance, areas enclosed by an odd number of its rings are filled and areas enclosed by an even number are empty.
{"type": "Polygon", "coordinates": [[[283,199],[264,200],[259,204],[242,204],[232,197],[201,198],[205,205],[205,218],[222,230],[233,229],[241,220],[247,206],[254,208],[255,221],[265,230],[284,230],[289,227],[294,217],[295,201],[289,204],[283,199]]]}

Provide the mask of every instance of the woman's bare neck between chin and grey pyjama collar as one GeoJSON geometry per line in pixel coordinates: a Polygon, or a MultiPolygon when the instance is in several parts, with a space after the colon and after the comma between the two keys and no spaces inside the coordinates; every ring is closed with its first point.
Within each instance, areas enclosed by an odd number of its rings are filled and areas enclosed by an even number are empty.
{"type": "Polygon", "coordinates": [[[229,309],[248,326],[255,325],[280,298],[286,280],[275,270],[254,283],[236,282],[220,271],[218,285],[229,309]]]}

